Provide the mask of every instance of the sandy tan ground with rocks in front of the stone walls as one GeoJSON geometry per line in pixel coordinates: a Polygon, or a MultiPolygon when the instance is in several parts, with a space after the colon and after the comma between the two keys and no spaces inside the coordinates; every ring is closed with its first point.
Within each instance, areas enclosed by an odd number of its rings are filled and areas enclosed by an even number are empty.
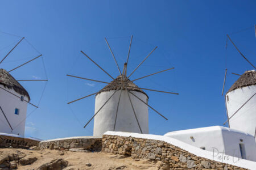
{"type": "Polygon", "coordinates": [[[162,162],[151,162],[146,159],[131,159],[130,156],[113,155],[104,152],[72,152],[59,150],[24,150],[17,148],[0,148],[1,151],[20,151],[27,156],[38,158],[30,165],[18,165],[18,169],[36,169],[40,165],[62,158],[68,161],[64,169],[162,169],[162,162]],[[62,155],[64,153],[64,155],[62,155]],[[92,164],[88,167],[86,164],[92,164]]]}

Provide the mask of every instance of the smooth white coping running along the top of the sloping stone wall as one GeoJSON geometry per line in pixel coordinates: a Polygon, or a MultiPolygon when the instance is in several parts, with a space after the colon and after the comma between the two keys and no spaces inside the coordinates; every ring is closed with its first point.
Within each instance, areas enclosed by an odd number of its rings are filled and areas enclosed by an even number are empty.
{"type": "Polygon", "coordinates": [[[238,167],[243,167],[247,169],[256,169],[256,162],[245,160],[245,159],[239,159],[233,158],[232,156],[228,156],[225,154],[220,155],[213,155],[213,152],[201,150],[200,148],[197,148],[195,146],[189,145],[188,143],[181,142],[175,138],[161,136],[161,135],[151,135],[151,134],[138,134],[138,133],[126,133],[121,131],[107,131],[104,133],[106,135],[118,135],[121,137],[134,137],[134,138],[143,138],[143,139],[154,139],[158,141],[164,141],[167,143],[170,143],[171,145],[175,145],[177,147],[183,148],[184,150],[191,152],[192,154],[195,154],[196,156],[201,156],[203,158],[216,160],[218,162],[226,163],[226,164],[232,164],[236,165],[238,167]]]}

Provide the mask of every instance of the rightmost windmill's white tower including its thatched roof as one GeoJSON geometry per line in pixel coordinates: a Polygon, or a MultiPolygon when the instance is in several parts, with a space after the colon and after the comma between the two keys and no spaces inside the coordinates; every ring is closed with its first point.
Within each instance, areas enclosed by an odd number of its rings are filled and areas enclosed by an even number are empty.
{"type": "Polygon", "coordinates": [[[245,71],[226,93],[229,127],[256,133],[256,71],[245,71]]]}

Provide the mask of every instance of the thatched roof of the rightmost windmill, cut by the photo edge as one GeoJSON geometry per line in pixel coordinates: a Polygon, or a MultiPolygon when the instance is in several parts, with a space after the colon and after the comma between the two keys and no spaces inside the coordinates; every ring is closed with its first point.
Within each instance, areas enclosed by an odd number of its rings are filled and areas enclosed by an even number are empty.
{"type": "MultiPolygon", "coordinates": [[[[252,86],[256,84],[256,71],[245,71],[240,78],[233,84],[232,87],[230,87],[229,91],[236,90],[237,88],[242,88],[246,86],[252,86]]],[[[228,93],[227,92],[227,93],[228,93]]]]}

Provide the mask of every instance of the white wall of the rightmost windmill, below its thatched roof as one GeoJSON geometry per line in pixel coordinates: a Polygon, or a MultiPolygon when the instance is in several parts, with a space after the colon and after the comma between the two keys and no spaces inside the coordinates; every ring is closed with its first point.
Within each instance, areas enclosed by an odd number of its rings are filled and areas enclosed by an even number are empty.
{"type": "MultiPolygon", "coordinates": [[[[237,88],[226,94],[226,107],[228,116],[231,117],[251,96],[256,93],[256,85],[237,88]]],[[[245,131],[251,135],[256,130],[256,95],[251,98],[229,120],[231,129],[245,131]]]]}

